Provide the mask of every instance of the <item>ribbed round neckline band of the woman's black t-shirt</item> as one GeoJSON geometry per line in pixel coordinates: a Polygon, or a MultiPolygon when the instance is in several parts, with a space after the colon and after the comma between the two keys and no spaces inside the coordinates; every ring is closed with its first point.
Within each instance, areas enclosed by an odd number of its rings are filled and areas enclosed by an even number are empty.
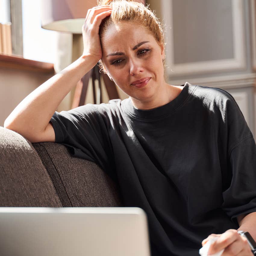
{"type": "Polygon", "coordinates": [[[163,106],[147,110],[138,109],[133,106],[131,98],[129,97],[124,100],[124,107],[128,111],[128,114],[134,118],[153,120],[164,117],[168,114],[173,113],[173,111],[175,111],[183,103],[185,103],[186,99],[189,97],[193,90],[193,86],[188,82],[181,86],[184,86],[184,88],[182,89],[180,94],[175,99],[163,106]]]}

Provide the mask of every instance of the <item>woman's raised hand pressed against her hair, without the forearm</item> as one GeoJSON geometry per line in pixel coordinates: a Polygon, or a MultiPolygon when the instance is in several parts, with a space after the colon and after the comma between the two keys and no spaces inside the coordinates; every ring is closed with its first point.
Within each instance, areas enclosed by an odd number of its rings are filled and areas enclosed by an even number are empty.
{"type": "Polygon", "coordinates": [[[97,61],[102,57],[102,49],[99,37],[99,26],[101,21],[109,16],[112,11],[110,5],[99,5],[87,11],[83,32],[83,55],[94,56],[97,61]]]}

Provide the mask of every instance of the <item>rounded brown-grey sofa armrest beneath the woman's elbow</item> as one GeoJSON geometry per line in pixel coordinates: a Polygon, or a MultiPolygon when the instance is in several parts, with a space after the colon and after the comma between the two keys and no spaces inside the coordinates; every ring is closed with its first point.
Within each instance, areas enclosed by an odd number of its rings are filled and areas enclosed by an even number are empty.
{"type": "Polygon", "coordinates": [[[62,207],[32,144],[0,126],[0,206],[62,207]]]}

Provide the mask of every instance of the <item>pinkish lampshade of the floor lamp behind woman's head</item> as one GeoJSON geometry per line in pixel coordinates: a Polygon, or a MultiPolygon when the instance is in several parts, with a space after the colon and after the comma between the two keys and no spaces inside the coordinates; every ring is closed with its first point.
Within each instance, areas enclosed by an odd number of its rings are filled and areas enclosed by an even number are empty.
{"type": "MultiPolygon", "coordinates": [[[[145,0],[137,0],[145,4],[145,0]]],[[[41,0],[41,27],[48,30],[82,34],[88,9],[97,0],[41,0]]]]}

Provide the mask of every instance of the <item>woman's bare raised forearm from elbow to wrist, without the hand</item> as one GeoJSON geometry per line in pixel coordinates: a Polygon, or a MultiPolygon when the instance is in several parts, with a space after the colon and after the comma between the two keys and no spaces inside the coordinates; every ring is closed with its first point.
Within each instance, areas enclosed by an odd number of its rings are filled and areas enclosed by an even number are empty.
{"type": "Polygon", "coordinates": [[[68,92],[95,64],[95,57],[81,56],[24,98],[7,117],[4,127],[33,141],[44,132],[68,92]]]}

